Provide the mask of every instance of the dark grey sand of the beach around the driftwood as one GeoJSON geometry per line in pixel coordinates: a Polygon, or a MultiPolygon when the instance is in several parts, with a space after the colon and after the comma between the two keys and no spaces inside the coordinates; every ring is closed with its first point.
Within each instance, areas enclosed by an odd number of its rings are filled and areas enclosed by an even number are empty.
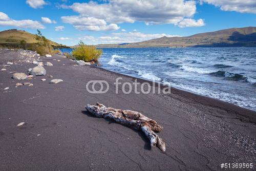
{"type": "MultiPolygon", "coordinates": [[[[0,53],[0,65],[16,56],[0,53]]],[[[168,95],[115,94],[117,77],[123,82],[134,78],[74,66],[59,55],[41,59],[54,65],[45,67],[47,74],[64,82],[49,84],[53,78],[48,76],[14,80],[8,74],[26,73],[35,67],[32,63],[0,71],[0,170],[222,170],[221,163],[253,163],[256,168],[256,112],[177,89],[168,95]],[[109,92],[88,93],[89,80],[108,81],[109,92]],[[15,88],[17,82],[34,86],[15,88]],[[164,126],[158,135],[166,152],[151,148],[140,132],[90,116],[84,105],[96,101],[156,120],[164,126]]]]}

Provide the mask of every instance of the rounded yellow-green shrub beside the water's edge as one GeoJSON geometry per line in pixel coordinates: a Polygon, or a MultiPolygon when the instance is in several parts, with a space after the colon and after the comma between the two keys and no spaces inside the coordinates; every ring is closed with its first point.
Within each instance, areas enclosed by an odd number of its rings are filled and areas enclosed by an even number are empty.
{"type": "Polygon", "coordinates": [[[86,62],[98,62],[101,54],[101,49],[97,49],[95,46],[85,45],[82,41],[80,41],[78,47],[72,51],[73,57],[78,60],[84,60],[86,62]]]}

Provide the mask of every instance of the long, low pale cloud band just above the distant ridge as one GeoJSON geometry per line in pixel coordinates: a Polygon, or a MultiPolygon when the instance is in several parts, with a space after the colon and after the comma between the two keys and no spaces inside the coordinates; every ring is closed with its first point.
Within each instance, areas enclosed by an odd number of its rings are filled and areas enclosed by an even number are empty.
{"type": "Polygon", "coordinates": [[[84,40],[86,44],[121,44],[121,43],[129,43],[129,42],[138,42],[145,41],[154,38],[160,37],[174,37],[178,35],[170,35],[170,34],[146,34],[141,32],[120,32],[120,33],[111,33],[108,35],[93,37],[93,36],[83,36],[79,37],[80,40],[84,40]]]}

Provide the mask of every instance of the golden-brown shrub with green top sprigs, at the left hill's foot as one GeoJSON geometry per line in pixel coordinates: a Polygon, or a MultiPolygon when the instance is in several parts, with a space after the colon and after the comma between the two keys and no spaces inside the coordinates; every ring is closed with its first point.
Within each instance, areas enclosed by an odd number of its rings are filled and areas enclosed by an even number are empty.
{"type": "Polygon", "coordinates": [[[35,39],[37,40],[37,45],[35,47],[36,52],[40,55],[51,54],[53,52],[53,48],[50,41],[43,36],[39,30],[37,30],[37,34],[35,36],[35,39]]]}

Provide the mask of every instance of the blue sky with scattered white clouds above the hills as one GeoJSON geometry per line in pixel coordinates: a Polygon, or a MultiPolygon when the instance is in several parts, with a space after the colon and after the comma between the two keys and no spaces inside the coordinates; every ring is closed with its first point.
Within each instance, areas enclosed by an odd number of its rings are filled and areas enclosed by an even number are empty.
{"type": "Polygon", "coordinates": [[[256,26],[255,0],[2,0],[0,31],[73,46],[139,42],[256,26]]]}

